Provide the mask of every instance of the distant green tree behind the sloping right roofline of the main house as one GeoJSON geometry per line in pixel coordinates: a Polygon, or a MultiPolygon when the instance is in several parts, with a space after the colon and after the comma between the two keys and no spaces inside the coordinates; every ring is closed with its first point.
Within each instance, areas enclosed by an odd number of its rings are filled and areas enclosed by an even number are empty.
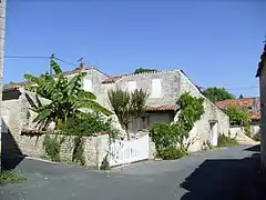
{"type": "Polygon", "coordinates": [[[235,99],[235,96],[229,93],[226,89],[216,87],[207,88],[203,91],[203,94],[213,102],[226,99],[235,99]]]}

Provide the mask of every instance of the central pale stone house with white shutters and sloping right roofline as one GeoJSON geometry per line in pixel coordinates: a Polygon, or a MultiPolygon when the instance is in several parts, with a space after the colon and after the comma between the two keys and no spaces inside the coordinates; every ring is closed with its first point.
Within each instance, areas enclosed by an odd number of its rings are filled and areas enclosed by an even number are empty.
{"type": "MultiPolygon", "coordinates": [[[[154,122],[171,123],[176,120],[176,100],[188,91],[192,96],[205,99],[205,113],[198,120],[190,133],[193,140],[191,151],[201,150],[203,143],[209,141],[213,146],[217,144],[219,133],[227,134],[229,130],[228,117],[213,102],[205,98],[201,90],[186,77],[182,70],[166,70],[156,72],[146,72],[137,74],[125,74],[109,77],[96,68],[85,68],[81,64],[73,71],[64,72],[64,76],[71,78],[81,71],[85,71],[83,78],[83,89],[93,92],[98,102],[103,107],[111,109],[108,91],[120,88],[122,90],[133,91],[143,89],[149,92],[147,110],[145,118],[135,119],[130,124],[130,133],[136,136],[139,131],[149,129],[154,122]]],[[[9,86],[13,87],[13,86],[9,86]]]]}

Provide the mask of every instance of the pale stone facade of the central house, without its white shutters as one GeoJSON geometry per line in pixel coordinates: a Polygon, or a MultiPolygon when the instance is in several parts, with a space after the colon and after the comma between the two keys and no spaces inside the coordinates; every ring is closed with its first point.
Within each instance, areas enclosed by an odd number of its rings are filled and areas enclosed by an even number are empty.
{"type": "MultiPolygon", "coordinates": [[[[93,69],[95,70],[95,69],[93,69]]],[[[98,76],[95,72],[94,76],[98,76]]],[[[108,78],[110,79],[110,78],[108,78]]],[[[102,80],[102,79],[101,79],[102,80]]],[[[175,111],[173,108],[176,107],[177,98],[188,91],[192,96],[202,97],[205,99],[204,108],[205,113],[202,116],[202,119],[195,123],[194,129],[191,132],[190,140],[195,140],[193,146],[191,146],[191,151],[201,150],[203,143],[206,140],[212,138],[212,128],[211,122],[217,123],[218,133],[228,134],[229,130],[229,119],[228,117],[213,102],[206,99],[198,88],[184,74],[182,70],[168,70],[160,72],[149,72],[149,73],[139,73],[139,74],[129,74],[122,77],[111,78],[108,81],[103,81],[99,86],[93,86],[100,88],[99,91],[95,91],[99,102],[105,108],[112,109],[108,100],[108,91],[111,89],[120,88],[122,90],[129,90],[130,82],[134,82],[134,89],[142,89],[150,93],[147,99],[147,107],[153,108],[151,111],[147,111],[150,119],[149,126],[143,126],[141,119],[134,120],[130,124],[130,132],[137,132],[143,127],[149,128],[152,123],[156,121],[162,121],[171,123],[176,120],[175,111]],[[152,81],[158,79],[161,80],[161,93],[160,97],[151,96],[154,88],[152,87],[152,81]],[[164,108],[160,110],[157,108],[164,108]]],[[[157,88],[155,88],[157,90],[157,88]]],[[[218,136],[217,133],[217,136],[218,136]]],[[[216,136],[216,137],[217,137],[216,136]]],[[[217,138],[216,138],[217,139],[217,138]]],[[[214,142],[215,144],[215,142],[214,142]]]]}

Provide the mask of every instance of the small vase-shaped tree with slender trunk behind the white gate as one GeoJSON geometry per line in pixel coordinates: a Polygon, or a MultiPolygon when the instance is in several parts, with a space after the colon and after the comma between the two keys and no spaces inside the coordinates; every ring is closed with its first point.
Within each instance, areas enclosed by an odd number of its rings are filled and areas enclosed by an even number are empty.
{"type": "Polygon", "coordinates": [[[146,110],[146,99],[149,94],[142,89],[135,90],[132,93],[116,89],[110,90],[108,97],[114,113],[125,129],[127,140],[130,140],[129,124],[133,119],[143,117],[146,110]]]}

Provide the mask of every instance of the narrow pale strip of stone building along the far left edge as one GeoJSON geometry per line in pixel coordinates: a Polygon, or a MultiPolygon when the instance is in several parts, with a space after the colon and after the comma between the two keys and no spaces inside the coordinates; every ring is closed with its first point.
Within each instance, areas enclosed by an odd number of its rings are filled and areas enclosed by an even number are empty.
{"type": "MultiPolygon", "coordinates": [[[[4,57],[4,32],[6,32],[6,6],[7,0],[0,0],[0,140],[2,136],[2,83],[3,83],[3,57],[4,57]]],[[[1,148],[2,140],[0,141],[1,148]]],[[[1,149],[0,149],[1,151],[1,149]]]]}

